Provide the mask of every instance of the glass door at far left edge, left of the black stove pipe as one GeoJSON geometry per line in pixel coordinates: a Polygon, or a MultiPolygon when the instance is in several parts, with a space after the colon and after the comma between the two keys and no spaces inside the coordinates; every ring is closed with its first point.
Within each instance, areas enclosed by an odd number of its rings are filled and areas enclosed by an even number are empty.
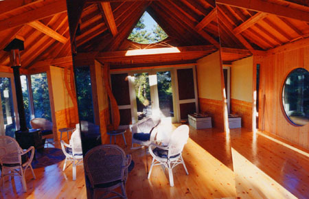
{"type": "Polygon", "coordinates": [[[10,137],[14,137],[18,123],[16,122],[17,104],[14,90],[12,74],[0,74],[0,134],[10,137]]]}

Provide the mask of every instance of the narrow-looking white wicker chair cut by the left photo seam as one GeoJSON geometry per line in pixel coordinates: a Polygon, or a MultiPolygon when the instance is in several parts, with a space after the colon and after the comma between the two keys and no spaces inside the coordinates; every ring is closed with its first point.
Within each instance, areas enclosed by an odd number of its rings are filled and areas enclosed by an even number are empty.
{"type": "MultiPolygon", "coordinates": [[[[78,127],[78,126],[77,126],[78,127]]],[[[82,163],[82,140],[80,139],[80,128],[72,133],[69,144],[60,141],[62,152],[65,154],[65,164],[62,171],[65,171],[67,161],[72,161],[73,180],[76,180],[76,166],[82,163]]]]}

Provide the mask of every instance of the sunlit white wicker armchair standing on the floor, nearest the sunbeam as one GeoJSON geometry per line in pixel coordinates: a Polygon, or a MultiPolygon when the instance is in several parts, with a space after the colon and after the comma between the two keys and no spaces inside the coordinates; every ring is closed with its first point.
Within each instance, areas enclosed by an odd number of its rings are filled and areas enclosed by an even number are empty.
{"type": "Polygon", "coordinates": [[[183,161],[183,156],[181,152],[183,151],[183,147],[185,143],[187,143],[187,139],[189,138],[189,127],[187,125],[181,125],[170,137],[170,141],[167,146],[157,145],[155,143],[151,143],[149,145],[149,152],[152,156],[152,163],[150,166],[150,171],[148,174],[148,179],[150,178],[150,174],[152,172],[152,167],[155,165],[164,165],[165,168],[168,168],[168,175],[170,177],[170,186],[174,187],[174,178],[172,169],[176,167],[176,165],[183,164],[185,168],[185,173],[188,175],[187,167],[185,167],[185,162],[183,161]]]}

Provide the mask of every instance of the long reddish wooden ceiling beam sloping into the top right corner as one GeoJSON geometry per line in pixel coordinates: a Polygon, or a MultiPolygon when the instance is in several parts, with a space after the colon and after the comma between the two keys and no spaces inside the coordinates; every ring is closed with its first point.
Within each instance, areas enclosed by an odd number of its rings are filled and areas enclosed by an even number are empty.
{"type": "Polygon", "coordinates": [[[254,10],[258,12],[266,12],[269,14],[275,14],[277,16],[288,17],[292,19],[298,19],[300,21],[309,22],[308,12],[302,10],[296,10],[293,8],[286,7],[284,5],[278,5],[268,1],[262,0],[216,0],[216,3],[231,5],[238,8],[244,8],[247,10],[254,10]]]}

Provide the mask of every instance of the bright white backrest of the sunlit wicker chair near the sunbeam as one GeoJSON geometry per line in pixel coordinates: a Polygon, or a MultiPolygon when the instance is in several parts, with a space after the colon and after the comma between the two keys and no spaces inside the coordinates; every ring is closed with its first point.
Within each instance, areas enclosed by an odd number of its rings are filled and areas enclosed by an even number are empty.
{"type": "Polygon", "coordinates": [[[170,142],[168,143],[168,156],[174,156],[183,151],[183,147],[185,143],[187,143],[187,139],[189,138],[189,126],[181,125],[176,128],[170,137],[170,142]]]}

